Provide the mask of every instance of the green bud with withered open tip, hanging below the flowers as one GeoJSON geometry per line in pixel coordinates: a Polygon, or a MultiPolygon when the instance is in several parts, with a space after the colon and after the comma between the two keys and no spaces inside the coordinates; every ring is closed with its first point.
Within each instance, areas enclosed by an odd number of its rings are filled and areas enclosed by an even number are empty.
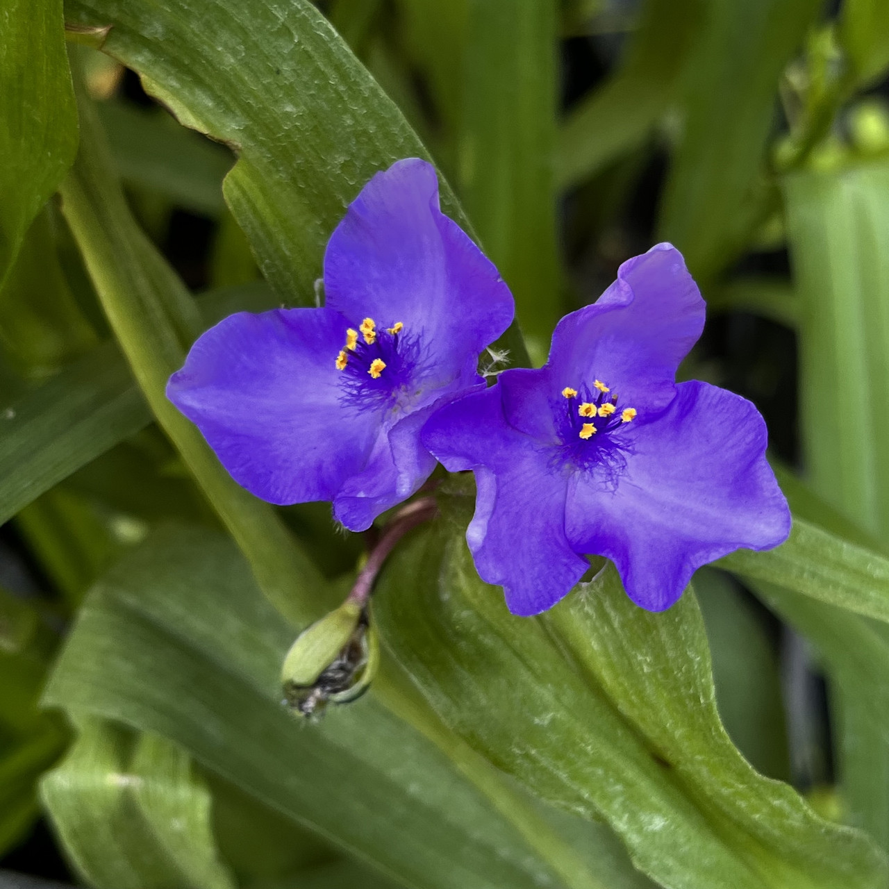
{"type": "Polygon", "coordinates": [[[355,701],[371,684],[380,659],[376,629],[366,607],[344,602],[303,630],[284,658],[284,700],[303,716],[328,702],[355,701]]]}

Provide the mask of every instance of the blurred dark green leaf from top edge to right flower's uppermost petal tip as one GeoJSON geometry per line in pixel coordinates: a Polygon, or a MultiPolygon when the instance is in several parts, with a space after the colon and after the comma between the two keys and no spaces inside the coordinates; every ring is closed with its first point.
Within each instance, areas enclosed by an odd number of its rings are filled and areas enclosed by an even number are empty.
{"type": "Polygon", "coordinates": [[[693,275],[714,276],[769,200],[758,181],[778,81],[820,0],[714,0],[685,76],[685,124],[661,203],[659,236],[693,275]]]}

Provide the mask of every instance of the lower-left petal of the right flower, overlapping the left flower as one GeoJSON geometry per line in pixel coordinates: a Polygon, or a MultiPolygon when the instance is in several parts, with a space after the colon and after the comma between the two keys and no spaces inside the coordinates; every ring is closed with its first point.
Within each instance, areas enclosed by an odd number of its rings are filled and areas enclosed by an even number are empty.
{"type": "Polygon", "coordinates": [[[555,605],[589,564],[565,538],[565,476],[548,449],[510,428],[500,387],[436,411],[422,440],[445,469],[475,470],[476,513],[466,539],[482,580],[504,588],[514,614],[555,605]]]}

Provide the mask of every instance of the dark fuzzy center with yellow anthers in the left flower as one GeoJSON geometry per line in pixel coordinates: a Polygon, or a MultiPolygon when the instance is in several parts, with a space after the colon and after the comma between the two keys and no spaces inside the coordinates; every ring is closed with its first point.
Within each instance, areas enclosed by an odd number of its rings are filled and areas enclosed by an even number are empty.
{"type": "Polygon", "coordinates": [[[364,318],[357,330],[347,329],[335,364],[350,400],[387,406],[409,388],[418,353],[416,338],[404,333],[400,321],[380,329],[373,318],[364,318]]]}

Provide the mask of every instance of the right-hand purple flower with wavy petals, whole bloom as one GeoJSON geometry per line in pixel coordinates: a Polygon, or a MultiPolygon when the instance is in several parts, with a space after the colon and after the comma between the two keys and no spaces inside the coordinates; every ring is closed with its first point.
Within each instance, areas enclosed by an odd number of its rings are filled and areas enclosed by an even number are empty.
{"type": "Polygon", "coordinates": [[[658,244],[559,322],[540,370],[503,372],[428,421],[438,460],[475,471],[469,548],[511,612],[555,605],[586,555],[610,558],[629,597],[661,611],[701,565],[787,538],[756,408],[675,382],[703,325],[682,256],[658,244]]]}

